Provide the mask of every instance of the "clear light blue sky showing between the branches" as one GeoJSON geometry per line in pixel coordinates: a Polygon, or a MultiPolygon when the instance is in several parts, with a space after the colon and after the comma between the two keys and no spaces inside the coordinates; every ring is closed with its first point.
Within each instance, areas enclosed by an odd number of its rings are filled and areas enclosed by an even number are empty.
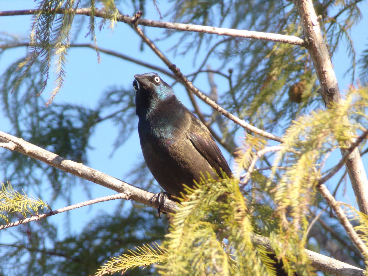
{"type": "MultiPolygon", "coordinates": [[[[0,0],[1,10],[17,10],[34,8],[34,2],[29,0],[17,0],[17,1],[7,1],[0,0]]],[[[159,3],[160,7],[164,7],[166,3],[164,1],[159,3]]],[[[366,26],[368,26],[368,4],[367,2],[362,2],[359,4],[363,15],[363,20],[358,26],[353,27],[351,37],[355,43],[355,49],[357,53],[361,53],[365,49],[367,44],[367,31],[366,26]]],[[[164,10],[164,8],[162,8],[164,10]]],[[[121,10],[123,14],[134,14],[135,9],[127,3],[126,8],[121,10]]],[[[156,10],[152,7],[147,9],[144,18],[149,18],[153,20],[159,20],[159,15],[156,10]]],[[[30,16],[14,16],[14,17],[0,17],[0,32],[7,32],[19,35],[20,37],[27,37],[29,34],[29,26],[31,25],[30,16]]],[[[90,38],[85,38],[84,35],[86,29],[78,37],[78,42],[80,43],[92,43],[90,38]]],[[[145,28],[145,33],[149,38],[160,37],[162,30],[156,28],[145,28]]],[[[148,47],[145,46],[145,51],[140,51],[141,40],[138,35],[132,30],[130,26],[124,23],[118,23],[114,30],[107,29],[106,27],[101,31],[97,32],[98,46],[107,49],[112,49],[117,52],[127,54],[135,57],[138,60],[143,60],[157,66],[164,68],[164,64],[158,57],[151,52],[148,47]]],[[[168,40],[164,42],[158,42],[157,45],[161,50],[166,52],[170,49],[171,45],[168,44],[168,40]]],[[[7,65],[14,61],[15,58],[20,57],[21,54],[25,53],[25,49],[13,49],[8,50],[5,54],[1,56],[0,59],[0,72],[3,72],[7,65]]],[[[172,52],[167,52],[170,60],[180,67],[184,74],[190,74],[194,71],[194,66],[192,66],[192,60],[188,57],[182,57],[180,55],[174,56],[172,52]]],[[[343,47],[340,47],[338,53],[333,57],[334,69],[339,81],[340,90],[344,93],[344,89],[350,84],[350,79],[344,77],[346,72],[347,53],[344,52],[343,47]]],[[[95,107],[97,101],[100,99],[102,92],[105,91],[111,85],[124,86],[125,88],[132,89],[132,81],[134,74],[143,74],[145,72],[152,71],[151,69],[144,68],[137,64],[117,59],[116,57],[107,56],[101,53],[101,62],[98,63],[96,52],[92,49],[70,49],[68,50],[68,63],[66,65],[67,77],[64,82],[64,87],[61,89],[60,93],[56,96],[55,103],[76,103],[82,104],[86,107],[95,107]]],[[[210,59],[209,64],[216,68],[219,66],[215,59],[210,59]]],[[[162,78],[169,84],[171,80],[165,76],[162,78]]],[[[45,89],[44,96],[45,99],[48,98],[48,93],[53,89],[53,77],[51,77],[49,85],[45,89]]],[[[216,84],[221,91],[222,77],[215,76],[216,84]]],[[[209,85],[207,78],[197,78],[194,83],[202,91],[208,91],[209,85]]],[[[180,85],[173,86],[176,90],[177,95],[185,103],[188,103],[185,90],[180,85]]],[[[132,89],[132,93],[134,90],[132,89]]],[[[198,100],[199,102],[199,100],[198,100]]],[[[46,107],[45,107],[46,108],[46,107]]],[[[208,107],[206,107],[208,108],[208,107]]],[[[321,103],[321,108],[323,108],[321,103]]],[[[1,116],[1,111],[0,111],[1,116]]],[[[137,120],[138,123],[138,120],[137,120]]],[[[0,130],[5,132],[11,132],[10,125],[4,121],[0,120],[0,130]]],[[[129,177],[127,176],[128,171],[130,171],[137,163],[142,160],[141,148],[139,145],[139,138],[137,131],[131,135],[128,141],[116,149],[113,152],[113,142],[117,135],[117,128],[111,121],[106,121],[99,124],[91,138],[91,149],[88,150],[88,166],[93,169],[102,171],[111,176],[126,180],[129,182],[129,177]],[[111,153],[113,152],[113,155],[111,153]]],[[[240,141],[240,137],[237,141],[240,141]]],[[[4,151],[4,149],[0,149],[4,151]]],[[[230,160],[230,156],[222,150],[227,160],[230,160]]],[[[339,159],[339,152],[335,152],[336,158],[339,159]]],[[[331,165],[332,166],[332,165],[331,165]]],[[[329,166],[327,166],[329,167],[329,166]]],[[[368,167],[366,167],[368,170],[368,167]]],[[[15,180],[13,180],[15,181],[15,180]]],[[[109,190],[105,187],[99,186],[94,183],[86,183],[88,187],[91,187],[92,198],[101,197],[103,195],[113,194],[114,191],[109,190]]],[[[333,182],[331,182],[333,185],[333,182]]],[[[152,191],[155,192],[155,191],[152,191]]],[[[85,201],[87,198],[85,192],[81,185],[75,187],[72,192],[72,204],[85,201]]],[[[348,189],[349,198],[340,198],[339,200],[352,202],[354,197],[351,194],[351,189],[348,189]]],[[[47,201],[47,198],[43,198],[47,201]]],[[[109,212],[117,202],[105,202],[97,204],[93,207],[79,208],[72,210],[70,215],[72,217],[72,231],[78,232],[82,229],[86,222],[89,222],[93,218],[93,214],[99,212],[109,212]]],[[[61,208],[64,206],[64,202],[55,202],[52,206],[53,209],[61,208]],[[60,204],[60,205],[58,205],[60,204]]],[[[49,219],[59,224],[63,227],[63,216],[57,215],[50,217],[49,219]]],[[[9,229],[11,231],[11,229],[9,229]]],[[[62,233],[61,233],[62,234],[62,233]]]]}

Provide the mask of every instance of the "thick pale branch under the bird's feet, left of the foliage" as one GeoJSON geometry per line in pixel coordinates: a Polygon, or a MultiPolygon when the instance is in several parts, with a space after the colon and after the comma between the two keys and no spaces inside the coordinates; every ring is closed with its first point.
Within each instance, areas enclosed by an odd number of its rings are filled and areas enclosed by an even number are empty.
{"type": "MultiPolygon", "coordinates": [[[[65,159],[59,155],[56,155],[55,153],[46,151],[45,149],[42,149],[3,131],[0,131],[0,146],[2,148],[10,149],[11,151],[23,153],[46,164],[49,164],[50,166],[56,167],[75,176],[82,177],[88,181],[102,185],[119,193],[124,193],[126,195],[125,199],[127,200],[133,199],[145,205],[151,206],[150,199],[153,197],[153,193],[144,191],[98,170],[84,166],[81,163],[65,159]]],[[[158,208],[156,202],[153,202],[152,206],[158,208]]],[[[174,213],[177,209],[178,206],[174,201],[171,201],[170,199],[166,200],[165,210],[174,213]]]]}

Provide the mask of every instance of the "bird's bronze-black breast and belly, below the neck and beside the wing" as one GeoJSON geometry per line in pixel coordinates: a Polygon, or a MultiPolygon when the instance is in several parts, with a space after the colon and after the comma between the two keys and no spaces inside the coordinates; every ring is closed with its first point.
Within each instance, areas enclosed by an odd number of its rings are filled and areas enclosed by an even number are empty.
{"type": "Polygon", "coordinates": [[[212,167],[202,153],[193,145],[191,120],[183,117],[170,117],[167,121],[155,123],[140,120],[139,139],[147,167],[169,194],[180,196],[184,190],[182,184],[191,186],[193,180],[199,182],[202,173],[216,177],[212,167]]]}

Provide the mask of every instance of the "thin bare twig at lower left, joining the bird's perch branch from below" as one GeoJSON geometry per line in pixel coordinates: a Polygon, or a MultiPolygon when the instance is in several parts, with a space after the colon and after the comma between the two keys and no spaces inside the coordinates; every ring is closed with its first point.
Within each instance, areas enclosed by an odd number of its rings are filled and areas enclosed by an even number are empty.
{"type": "Polygon", "coordinates": [[[91,205],[91,204],[95,204],[95,203],[98,203],[98,202],[109,201],[109,200],[112,200],[112,199],[129,200],[129,195],[125,192],[122,192],[120,194],[106,195],[105,197],[100,197],[100,198],[87,200],[87,201],[80,202],[80,203],[77,203],[77,204],[73,204],[73,205],[70,205],[70,206],[67,206],[67,207],[52,210],[52,211],[50,211],[49,213],[46,213],[46,214],[31,216],[31,217],[27,217],[26,219],[18,220],[17,222],[11,222],[11,223],[8,223],[8,224],[0,225],[0,230],[1,229],[6,229],[6,228],[9,228],[9,227],[13,227],[13,226],[18,226],[19,224],[33,222],[34,220],[40,220],[40,219],[43,219],[45,217],[53,216],[53,215],[60,214],[60,213],[66,212],[66,211],[70,211],[72,209],[77,209],[77,208],[87,206],[87,205],[91,205]]]}

